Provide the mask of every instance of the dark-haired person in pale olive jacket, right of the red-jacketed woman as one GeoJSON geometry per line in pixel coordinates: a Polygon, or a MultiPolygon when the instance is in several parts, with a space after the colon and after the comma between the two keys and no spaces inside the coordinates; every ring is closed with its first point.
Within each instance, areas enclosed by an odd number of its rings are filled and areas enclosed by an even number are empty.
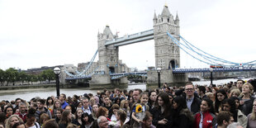
{"type": "Polygon", "coordinates": [[[222,102],[222,110],[230,111],[233,114],[235,122],[239,122],[239,124],[243,127],[247,126],[247,116],[245,116],[242,111],[235,108],[234,98],[226,98],[222,102]]]}

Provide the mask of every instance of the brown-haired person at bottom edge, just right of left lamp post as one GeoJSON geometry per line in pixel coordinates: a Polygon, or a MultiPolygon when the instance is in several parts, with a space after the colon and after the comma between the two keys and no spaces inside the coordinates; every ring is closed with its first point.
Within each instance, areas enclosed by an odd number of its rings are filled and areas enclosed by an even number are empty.
{"type": "Polygon", "coordinates": [[[59,128],[66,128],[72,120],[72,113],[69,110],[64,110],[62,112],[60,121],[59,121],[59,128]]]}

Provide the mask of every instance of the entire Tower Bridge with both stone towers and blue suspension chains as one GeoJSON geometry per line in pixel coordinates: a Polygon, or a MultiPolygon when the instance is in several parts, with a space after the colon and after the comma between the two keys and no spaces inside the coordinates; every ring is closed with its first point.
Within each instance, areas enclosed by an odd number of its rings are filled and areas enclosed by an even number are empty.
{"type": "MultiPolygon", "coordinates": [[[[226,61],[224,59],[216,58],[212,55],[204,55],[205,53],[197,52],[195,46],[189,44],[187,40],[184,40],[180,36],[180,26],[178,14],[174,18],[169,12],[168,6],[164,6],[161,14],[158,16],[154,12],[153,18],[153,29],[148,31],[141,31],[132,35],[118,37],[113,35],[109,26],[106,26],[102,33],[97,34],[97,52],[92,57],[87,67],[77,74],[69,74],[69,78],[66,80],[76,79],[90,79],[89,84],[91,86],[104,86],[104,85],[123,85],[127,84],[127,75],[141,75],[147,76],[147,84],[154,85],[158,82],[158,73],[155,69],[161,68],[161,82],[173,85],[183,85],[187,82],[187,73],[195,72],[210,72],[210,69],[180,69],[180,50],[184,50],[188,55],[191,55],[194,59],[197,59],[206,64],[220,64],[227,63],[232,64],[231,68],[214,69],[214,72],[226,72],[226,71],[256,71],[255,67],[249,67],[248,69],[241,69],[239,64],[226,61]],[[191,50],[193,53],[200,55],[203,59],[199,59],[190,52],[187,52],[182,47],[180,39],[185,42],[185,48],[191,50]],[[155,57],[155,68],[140,73],[124,73],[119,59],[119,47],[124,45],[130,45],[139,43],[145,40],[154,40],[154,57],[155,57]],[[92,65],[95,56],[98,53],[98,61],[94,64],[97,67],[96,71],[88,73],[88,69],[92,65]],[[218,62],[220,61],[220,62],[218,62]]],[[[245,63],[244,65],[255,64],[256,61],[245,63]]],[[[92,70],[92,69],[91,69],[92,70]]]]}

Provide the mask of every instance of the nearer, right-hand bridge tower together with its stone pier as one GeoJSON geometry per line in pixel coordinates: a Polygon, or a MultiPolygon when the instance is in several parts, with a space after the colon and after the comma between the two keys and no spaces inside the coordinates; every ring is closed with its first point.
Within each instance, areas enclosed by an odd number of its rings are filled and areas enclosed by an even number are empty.
{"type": "MultiPolygon", "coordinates": [[[[187,82],[185,73],[174,73],[173,69],[180,67],[180,50],[178,45],[173,43],[166,33],[168,31],[177,40],[180,32],[178,14],[175,19],[165,5],[163,12],[157,17],[154,12],[154,54],[155,68],[161,68],[161,83],[169,85],[184,85],[187,82]]],[[[148,71],[147,83],[155,85],[158,82],[158,73],[155,70],[148,71]]]]}

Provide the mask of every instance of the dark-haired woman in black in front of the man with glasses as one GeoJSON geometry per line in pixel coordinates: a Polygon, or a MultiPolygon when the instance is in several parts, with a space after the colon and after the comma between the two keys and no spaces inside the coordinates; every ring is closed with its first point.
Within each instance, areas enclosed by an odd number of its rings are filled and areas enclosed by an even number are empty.
{"type": "Polygon", "coordinates": [[[183,97],[175,97],[173,99],[172,112],[172,126],[173,128],[187,128],[192,127],[193,116],[187,108],[187,102],[183,97]]]}

